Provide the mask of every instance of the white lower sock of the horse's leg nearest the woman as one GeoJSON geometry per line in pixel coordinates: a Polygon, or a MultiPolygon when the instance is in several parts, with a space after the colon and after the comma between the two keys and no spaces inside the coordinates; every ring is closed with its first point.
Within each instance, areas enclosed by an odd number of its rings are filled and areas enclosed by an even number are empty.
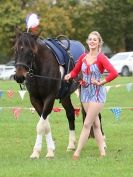
{"type": "Polygon", "coordinates": [[[75,149],[75,143],[76,143],[75,131],[74,130],[69,130],[69,143],[68,143],[67,151],[74,150],[75,149]]]}

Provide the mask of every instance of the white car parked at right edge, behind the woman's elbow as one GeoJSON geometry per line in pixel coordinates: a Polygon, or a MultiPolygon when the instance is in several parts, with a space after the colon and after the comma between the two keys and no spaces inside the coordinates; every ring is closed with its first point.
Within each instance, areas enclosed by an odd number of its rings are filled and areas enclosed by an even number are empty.
{"type": "Polygon", "coordinates": [[[120,75],[130,76],[133,74],[133,52],[117,53],[109,61],[120,75]]]}

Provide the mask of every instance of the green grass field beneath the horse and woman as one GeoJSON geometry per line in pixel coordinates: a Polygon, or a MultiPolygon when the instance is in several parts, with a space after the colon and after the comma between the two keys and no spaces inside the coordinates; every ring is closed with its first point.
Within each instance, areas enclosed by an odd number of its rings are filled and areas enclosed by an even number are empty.
{"type": "MultiPolygon", "coordinates": [[[[80,159],[72,160],[73,152],[66,152],[68,143],[68,124],[65,112],[52,112],[50,117],[56,153],[53,160],[47,160],[46,144],[39,160],[30,160],[29,156],[35,142],[38,115],[28,109],[22,110],[19,119],[13,116],[11,107],[31,107],[28,93],[21,100],[19,86],[14,81],[0,81],[0,177],[132,177],[133,164],[133,88],[127,91],[126,85],[133,83],[132,77],[119,77],[107,84],[112,86],[107,95],[107,102],[102,112],[102,122],[107,139],[107,156],[99,159],[95,140],[90,139],[85,145],[80,159]],[[118,84],[121,84],[118,87],[118,84]],[[6,91],[14,90],[14,97],[9,98],[6,91]],[[122,113],[116,119],[111,107],[121,107],[122,113]],[[10,108],[9,108],[10,107],[10,108]]],[[[72,95],[75,107],[79,100],[72,95]]],[[[58,100],[55,107],[61,107],[58,100]]],[[[82,128],[81,114],[76,118],[76,137],[82,128]]]]}

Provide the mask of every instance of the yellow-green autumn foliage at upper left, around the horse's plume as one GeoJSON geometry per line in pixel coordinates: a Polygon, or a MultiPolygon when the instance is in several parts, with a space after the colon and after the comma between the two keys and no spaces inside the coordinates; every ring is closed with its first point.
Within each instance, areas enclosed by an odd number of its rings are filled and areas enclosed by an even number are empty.
{"type": "Polygon", "coordinates": [[[12,54],[14,27],[17,25],[26,31],[25,18],[31,13],[40,17],[40,31],[45,38],[56,37],[60,34],[71,36],[74,32],[69,12],[63,7],[57,7],[50,1],[44,0],[3,0],[0,4],[2,22],[0,26],[0,53],[12,54]]]}

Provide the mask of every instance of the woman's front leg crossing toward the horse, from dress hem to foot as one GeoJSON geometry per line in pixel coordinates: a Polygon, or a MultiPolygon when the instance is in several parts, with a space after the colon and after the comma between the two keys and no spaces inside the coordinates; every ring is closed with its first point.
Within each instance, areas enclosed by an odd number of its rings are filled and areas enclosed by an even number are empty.
{"type": "Polygon", "coordinates": [[[80,152],[83,148],[83,146],[85,145],[86,141],[88,140],[88,136],[90,134],[90,129],[91,126],[93,125],[96,117],[98,116],[99,112],[102,110],[103,108],[102,103],[83,103],[84,109],[86,110],[87,107],[87,115],[84,121],[84,125],[80,134],[80,138],[78,141],[78,146],[76,151],[74,152],[74,156],[73,158],[75,159],[75,157],[78,157],[80,155],[80,152]]]}

